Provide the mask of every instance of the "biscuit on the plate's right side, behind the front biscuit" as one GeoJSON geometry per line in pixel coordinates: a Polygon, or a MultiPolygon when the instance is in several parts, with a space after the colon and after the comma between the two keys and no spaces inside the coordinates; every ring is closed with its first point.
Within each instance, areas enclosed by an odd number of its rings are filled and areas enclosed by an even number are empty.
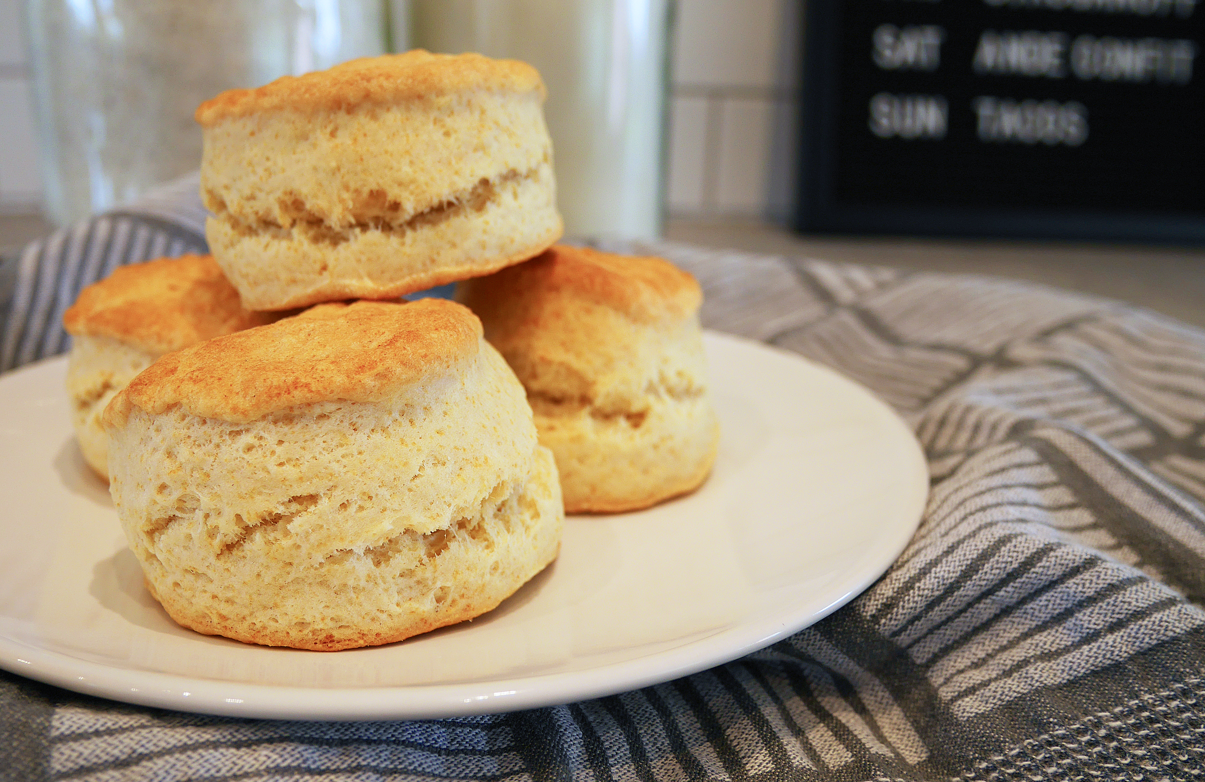
{"type": "Polygon", "coordinates": [[[716,459],[690,275],[660,258],[556,246],[460,283],[527,389],[566,512],[618,512],[690,492],[716,459]]]}

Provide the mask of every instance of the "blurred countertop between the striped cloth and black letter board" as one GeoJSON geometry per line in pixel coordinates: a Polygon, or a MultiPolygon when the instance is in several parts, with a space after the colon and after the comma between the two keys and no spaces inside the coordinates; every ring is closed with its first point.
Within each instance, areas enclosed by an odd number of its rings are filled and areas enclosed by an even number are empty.
{"type": "MultiPolygon", "coordinates": [[[[0,249],[52,229],[36,214],[0,214],[0,249]]],[[[916,271],[991,275],[1129,301],[1205,328],[1205,248],[1077,242],[800,236],[756,219],[672,219],[666,239],[758,253],[916,271]]]]}

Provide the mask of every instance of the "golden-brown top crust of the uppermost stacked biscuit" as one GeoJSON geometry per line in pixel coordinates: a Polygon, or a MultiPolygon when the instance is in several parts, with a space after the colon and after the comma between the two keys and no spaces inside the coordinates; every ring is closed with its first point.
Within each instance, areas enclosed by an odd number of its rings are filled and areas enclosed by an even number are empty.
{"type": "Polygon", "coordinates": [[[255,89],[229,89],[201,104],[195,116],[202,127],[210,127],[223,119],[282,108],[346,111],[483,89],[536,92],[541,100],[545,96],[540,72],[527,63],[412,49],[348,60],[302,76],[282,76],[255,89]]]}

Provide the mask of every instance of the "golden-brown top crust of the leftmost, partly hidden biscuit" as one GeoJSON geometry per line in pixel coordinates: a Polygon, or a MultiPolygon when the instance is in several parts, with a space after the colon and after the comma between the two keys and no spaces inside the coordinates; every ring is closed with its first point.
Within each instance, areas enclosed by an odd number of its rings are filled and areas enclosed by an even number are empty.
{"type": "Polygon", "coordinates": [[[212,257],[181,255],[118,266],[80,292],[63,327],[158,355],[280,317],[243,308],[212,257]]]}

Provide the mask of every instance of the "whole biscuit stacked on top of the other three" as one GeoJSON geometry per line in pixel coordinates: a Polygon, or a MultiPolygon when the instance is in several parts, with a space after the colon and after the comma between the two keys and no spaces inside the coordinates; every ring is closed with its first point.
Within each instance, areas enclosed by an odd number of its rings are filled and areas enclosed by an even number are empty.
{"type": "Polygon", "coordinates": [[[539,72],[405,54],[201,104],[206,239],[253,310],[390,299],[562,234],[539,72]]]}

